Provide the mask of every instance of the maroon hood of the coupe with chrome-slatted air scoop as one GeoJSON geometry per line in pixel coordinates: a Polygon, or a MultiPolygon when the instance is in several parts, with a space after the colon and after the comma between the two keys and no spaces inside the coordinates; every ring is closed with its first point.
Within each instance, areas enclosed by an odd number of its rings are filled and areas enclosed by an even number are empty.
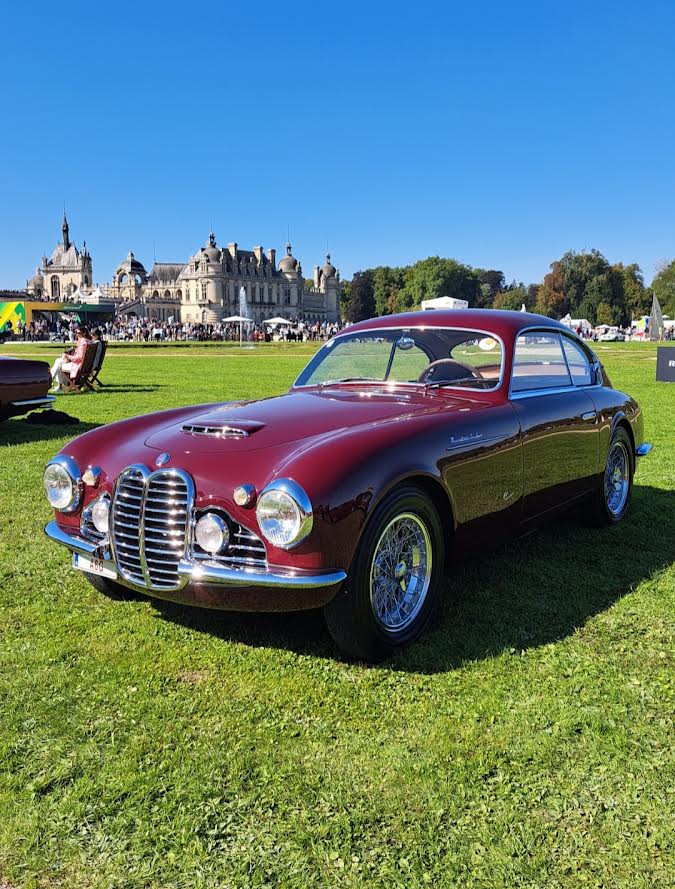
{"type": "MultiPolygon", "coordinates": [[[[270,448],[362,424],[451,409],[452,402],[424,392],[359,389],[291,391],[261,401],[202,405],[193,416],[152,432],[151,448],[178,454],[236,453],[270,448]],[[440,404],[439,404],[440,402],[440,404]]],[[[456,399],[466,404],[466,399],[456,399]]]]}

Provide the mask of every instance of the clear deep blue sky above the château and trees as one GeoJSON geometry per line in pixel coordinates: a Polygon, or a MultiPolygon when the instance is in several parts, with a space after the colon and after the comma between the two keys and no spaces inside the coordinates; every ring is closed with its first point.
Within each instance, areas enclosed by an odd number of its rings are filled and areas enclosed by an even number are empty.
{"type": "Polygon", "coordinates": [[[668,2],[13,3],[0,30],[0,288],[60,237],[326,244],[540,280],[568,249],[675,256],[668,2]]]}

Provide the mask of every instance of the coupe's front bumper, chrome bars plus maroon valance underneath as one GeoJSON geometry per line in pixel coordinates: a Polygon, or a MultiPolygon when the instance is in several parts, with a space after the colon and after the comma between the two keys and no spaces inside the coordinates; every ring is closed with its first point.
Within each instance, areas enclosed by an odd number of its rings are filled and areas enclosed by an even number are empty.
{"type": "Polygon", "coordinates": [[[296,611],[318,608],[333,598],[345,580],[345,571],[307,573],[293,570],[258,571],[227,568],[214,562],[182,559],[178,565],[181,586],[175,590],[153,589],[129,583],[120,576],[107,545],[99,545],[60,528],[56,521],[45,526],[50,540],[73,553],[99,559],[117,573],[115,583],[160,599],[223,608],[233,611],[296,611]]]}

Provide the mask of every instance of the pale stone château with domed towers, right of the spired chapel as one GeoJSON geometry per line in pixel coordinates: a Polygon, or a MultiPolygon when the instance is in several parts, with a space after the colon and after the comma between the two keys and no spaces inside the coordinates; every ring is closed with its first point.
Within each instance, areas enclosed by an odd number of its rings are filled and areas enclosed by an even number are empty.
{"type": "Polygon", "coordinates": [[[148,318],[213,324],[240,314],[244,288],[248,316],[260,322],[282,315],[307,321],[337,321],[340,274],[330,256],[314,269],[307,287],[302,266],[286,244],[279,264],[276,250],[241,250],[236,242],[219,247],[213,232],[186,264],[155,262],[150,273],[129,253],[117,267],[108,294],[119,299],[119,311],[148,318]]]}

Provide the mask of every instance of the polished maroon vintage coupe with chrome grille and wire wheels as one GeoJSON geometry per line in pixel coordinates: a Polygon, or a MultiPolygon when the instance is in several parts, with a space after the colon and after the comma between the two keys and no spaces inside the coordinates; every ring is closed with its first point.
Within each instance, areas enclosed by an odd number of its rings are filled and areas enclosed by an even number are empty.
{"type": "Polygon", "coordinates": [[[572,504],[626,514],[638,404],[562,324],[489,310],[354,324],[286,394],[87,432],[49,462],[46,533],[113,598],[322,607],[347,655],[429,623],[466,553],[572,504]]]}

